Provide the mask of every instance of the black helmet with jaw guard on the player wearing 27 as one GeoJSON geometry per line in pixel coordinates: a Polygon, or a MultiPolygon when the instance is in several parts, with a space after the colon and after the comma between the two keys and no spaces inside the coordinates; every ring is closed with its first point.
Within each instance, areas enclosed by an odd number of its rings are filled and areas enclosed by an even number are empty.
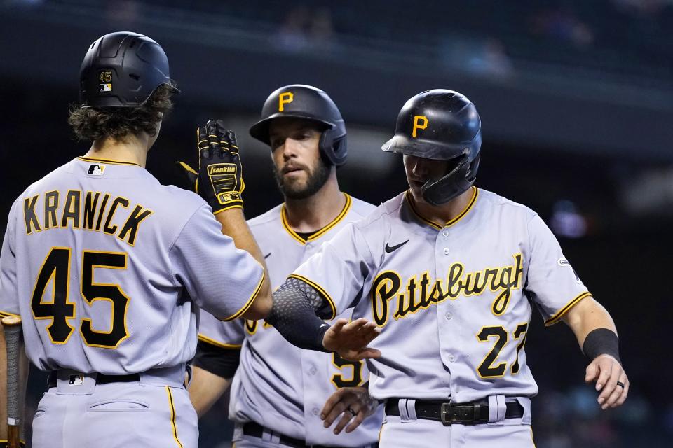
{"type": "Polygon", "coordinates": [[[482,122],[475,105],[453,90],[434,89],[407,101],[397,115],[395,136],[381,149],[433,160],[454,160],[440,179],[428,180],[421,192],[440,205],[475,182],[482,146],[482,122]]]}

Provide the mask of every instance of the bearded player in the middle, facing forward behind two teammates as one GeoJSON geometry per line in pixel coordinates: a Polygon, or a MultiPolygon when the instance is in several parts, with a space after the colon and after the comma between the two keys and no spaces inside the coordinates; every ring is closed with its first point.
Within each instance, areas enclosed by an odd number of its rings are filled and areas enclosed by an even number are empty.
{"type": "MultiPolygon", "coordinates": [[[[346,162],[346,128],[325,92],[281,87],[266,99],[261,118],[250,134],[271,146],[285,203],[248,223],[277,287],[374,206],[339,191],[336,168],[346,162]]],[[[350,310],[339,314],[348,318],[350,310]]],[[[233,377],[229,416],[236,421],[238,448],[371,447],[378,440],[382,409],[369,398],[361,360],[298,349],[264,321],[220,322],[203,315],[197,353],[189,389],[194,407],[203,414],[233,377]]]]}

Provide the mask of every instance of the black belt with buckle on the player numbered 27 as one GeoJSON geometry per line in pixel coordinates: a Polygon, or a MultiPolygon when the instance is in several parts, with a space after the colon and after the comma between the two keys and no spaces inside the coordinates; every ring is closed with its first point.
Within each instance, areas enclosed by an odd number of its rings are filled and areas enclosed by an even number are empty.
{"type": "MultiPolygon", "coordinates": [[[[386,415],[400,416],[397,403],[400,398],[386,400],[386,415]]],[[[518,401],[506,402],[505,419],[519,419],[524,416],[524,408],[518,401]]],[[[470,403],[452,403],[441,400],[416,400],[416,418],[441,421],[444,426],[478,425],[489,423],[489,402],[486,400],[470,403]]]]}

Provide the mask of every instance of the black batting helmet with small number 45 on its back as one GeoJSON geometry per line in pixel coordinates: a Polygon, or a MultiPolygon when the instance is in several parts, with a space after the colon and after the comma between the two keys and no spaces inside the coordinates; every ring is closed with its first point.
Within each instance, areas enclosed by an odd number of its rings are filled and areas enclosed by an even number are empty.
{"type": "Polygon", "coordinates": [[[80,103],[83,107],[137,107],[162,84],[172,85],[161,45],[142,34],[110,33],[92,43],[84,56],[80,103]]]}

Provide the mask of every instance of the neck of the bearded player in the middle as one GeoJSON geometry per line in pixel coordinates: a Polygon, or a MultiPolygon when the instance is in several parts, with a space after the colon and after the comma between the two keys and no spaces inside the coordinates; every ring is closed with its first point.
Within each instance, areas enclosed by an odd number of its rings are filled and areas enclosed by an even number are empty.
{"type": "Polygon", "coordinates": [[[306,199],[285,198],[285,216],[295,232],[315,232],[334,221],[344,209],[346,197],[339,190],[337,173],[332,172],[325,185],[306,199]]]}

